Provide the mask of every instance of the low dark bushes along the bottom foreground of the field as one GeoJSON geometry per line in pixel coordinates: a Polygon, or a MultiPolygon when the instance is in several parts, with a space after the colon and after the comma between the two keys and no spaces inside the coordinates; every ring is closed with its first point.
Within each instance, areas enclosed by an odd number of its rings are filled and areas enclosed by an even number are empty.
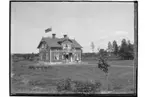
{"type": "Polygon", "coordinates": [[[68,92],[77,92],[77,93],[94,93],[100,92],[100,82],[83,82],[83,81],[72,81],[70,78],[66,80],[61,80],[57,84],[58,92],[68,91],[68,92]]]}

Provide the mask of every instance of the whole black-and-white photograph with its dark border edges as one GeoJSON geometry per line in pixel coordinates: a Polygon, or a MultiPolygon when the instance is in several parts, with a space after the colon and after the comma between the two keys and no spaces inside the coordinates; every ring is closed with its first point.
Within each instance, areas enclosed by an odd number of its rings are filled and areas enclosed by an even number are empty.
{"type": "Polygon", "coordinates": [[[11,1],[10,95],[136,95],[137,5],[11,1]]]}

